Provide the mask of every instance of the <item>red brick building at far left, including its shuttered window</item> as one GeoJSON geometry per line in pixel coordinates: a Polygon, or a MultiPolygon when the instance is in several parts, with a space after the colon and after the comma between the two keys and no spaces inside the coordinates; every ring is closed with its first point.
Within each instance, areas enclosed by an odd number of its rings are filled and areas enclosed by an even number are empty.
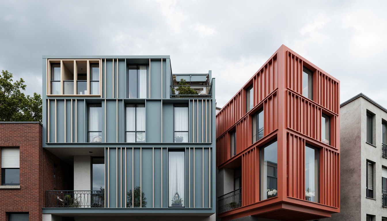
{"type": "Polygon", "coordinates": [[[58,189],[71,189],[63,184],[71,185],[68,165],[42,149],[39,122],[0,122],[0,166],[0,220],[41,221],[44,191],[55,180],[58,189]]]}

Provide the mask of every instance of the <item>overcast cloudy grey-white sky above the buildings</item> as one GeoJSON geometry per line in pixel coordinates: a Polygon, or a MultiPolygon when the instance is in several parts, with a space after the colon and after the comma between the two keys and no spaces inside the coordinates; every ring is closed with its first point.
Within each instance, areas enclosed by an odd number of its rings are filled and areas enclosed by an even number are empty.
{"type": "Polygon", "coordinates": [[[0,69],[41,93],[42,55],[170,55],[221,107],[282,45],[387,108],[387,1],[0,1],[0,69]]]}

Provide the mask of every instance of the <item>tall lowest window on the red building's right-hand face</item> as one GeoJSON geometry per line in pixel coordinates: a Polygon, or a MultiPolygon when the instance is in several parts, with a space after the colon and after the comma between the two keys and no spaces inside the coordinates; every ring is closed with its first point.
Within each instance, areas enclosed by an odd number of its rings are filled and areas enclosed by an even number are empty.
{"type": "Polygon", "coordinates": [[[319,150],[305,146],[305,199],[319,202],[319,150]]]}

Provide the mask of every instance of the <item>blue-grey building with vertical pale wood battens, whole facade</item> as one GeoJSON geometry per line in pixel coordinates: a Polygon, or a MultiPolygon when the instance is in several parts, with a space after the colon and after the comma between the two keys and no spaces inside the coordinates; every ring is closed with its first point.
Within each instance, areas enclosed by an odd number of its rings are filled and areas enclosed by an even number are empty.
{"type": "Polygon", "coordinates": [[[46,190],[43,220],[215,219],[211,71],[173,74],[169,56],[43,56],[42,69],[43,148],[74,172],[55,181],[71,190],[46,190]]]}

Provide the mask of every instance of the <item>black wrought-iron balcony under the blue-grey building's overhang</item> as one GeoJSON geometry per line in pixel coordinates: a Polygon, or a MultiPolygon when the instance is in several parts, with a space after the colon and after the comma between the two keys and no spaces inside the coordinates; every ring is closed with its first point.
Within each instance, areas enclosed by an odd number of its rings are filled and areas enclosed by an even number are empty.
{"type": "Polygon", "coordinates": [[[104,208],[105,191],[47,190],[46,208],[104,208]]]}

